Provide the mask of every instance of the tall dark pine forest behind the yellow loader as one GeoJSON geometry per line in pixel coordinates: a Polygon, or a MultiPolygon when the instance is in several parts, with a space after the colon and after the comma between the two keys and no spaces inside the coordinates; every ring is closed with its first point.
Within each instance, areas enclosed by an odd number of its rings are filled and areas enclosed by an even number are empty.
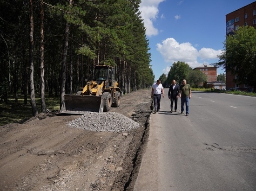
{"type": "Polygon", "coordinates": [[[94,65],[115,67],[124,94],[154,83],[141,0],[1,0],[0,97],[75,94],[94,65]]]}

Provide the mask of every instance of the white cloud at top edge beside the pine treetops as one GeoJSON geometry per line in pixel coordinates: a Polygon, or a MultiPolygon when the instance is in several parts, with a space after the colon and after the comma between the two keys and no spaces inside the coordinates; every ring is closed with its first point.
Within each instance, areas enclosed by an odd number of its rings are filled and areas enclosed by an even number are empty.
{"type": "Polygon", "coordinates": [[[141,0],[139,10],[141,11],[141,18],[146,28],[146,35],[149,37],[158,34],[158,29],[155,28],[153,22],[159,13],[158,5],[163,1],[164,0],[141,0]]]}

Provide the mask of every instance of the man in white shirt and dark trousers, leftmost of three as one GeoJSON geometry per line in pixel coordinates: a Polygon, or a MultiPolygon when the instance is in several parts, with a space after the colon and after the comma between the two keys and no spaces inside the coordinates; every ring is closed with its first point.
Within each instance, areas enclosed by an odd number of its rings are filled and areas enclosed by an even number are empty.
{"type": "Polygon", "coordinates": [[[160,110],[160,101],[161,101],[161,93],[162,96],[164,98],[164,91],[163,91],[163,87],[161,84],[161,80],[157,80],[156,83],[152,86],[152,90],[151,90],[151,98],[154,98],[154,107],[155,107],[155,112],[159,112],[160,110]]]}

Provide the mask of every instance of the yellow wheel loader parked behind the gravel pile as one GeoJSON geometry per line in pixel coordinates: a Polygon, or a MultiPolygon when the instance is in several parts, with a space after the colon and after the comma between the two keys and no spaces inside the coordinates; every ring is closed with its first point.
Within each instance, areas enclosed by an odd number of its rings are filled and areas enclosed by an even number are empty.
{"type": "Polygon", "coordinates": [[[121,89],[115,81],[115,69],[109,65],[94,65],[94,77],[76,95],[64,95],[60,113],[83,115],[87,111],[109,111],[119,107],[121,89]]]}

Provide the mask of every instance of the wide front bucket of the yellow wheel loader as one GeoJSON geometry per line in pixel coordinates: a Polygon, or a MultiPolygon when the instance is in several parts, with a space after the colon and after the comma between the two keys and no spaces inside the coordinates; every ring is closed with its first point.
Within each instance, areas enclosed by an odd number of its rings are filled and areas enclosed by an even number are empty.
{"type": "Polygon", "coordinates": [[[84,115],[87,111],[103,112],[101,96],[64,95],[60,113],[84,115]]]}

